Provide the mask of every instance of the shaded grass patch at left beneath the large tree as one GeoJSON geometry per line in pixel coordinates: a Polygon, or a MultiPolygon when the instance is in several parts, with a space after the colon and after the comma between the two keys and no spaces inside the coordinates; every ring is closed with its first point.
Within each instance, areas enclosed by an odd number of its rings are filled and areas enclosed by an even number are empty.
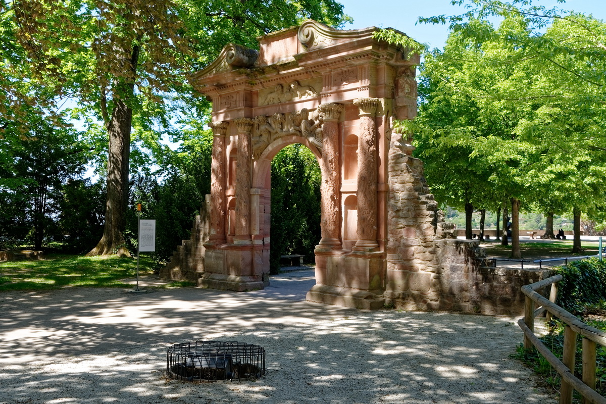
{"type": "MultiPolygon", "coordinates": [[[[141,256],[139,273],[152,273],[155,263],[141,256]]],[[[136,274],[137,261],[119,257],[49,255],[43,260],[0,263],[0,291],[48,290],[72,286],[119,287],[136,274]]]]}

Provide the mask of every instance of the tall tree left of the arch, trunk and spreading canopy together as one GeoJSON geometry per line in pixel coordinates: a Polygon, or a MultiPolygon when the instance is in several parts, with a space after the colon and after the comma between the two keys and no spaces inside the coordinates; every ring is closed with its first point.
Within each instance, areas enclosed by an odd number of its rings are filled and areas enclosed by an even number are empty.
{"type": "Polygon", "coordinates": [[[2,2],[2,9],[14,18],[11,33],[36,75],[58,82],[58,93],[75,97],[107,131],[104,234],[90,255],[128,254],[121,246],[133,122],[141,130],[136,137],[158,148],[153,129],[170,124],[166,113],[175,111],[163,101],[191,93],[187,74],[223,45],[250,45],[259,34],[307,17],[333,24],[346,18],[334,0],[19,0],[2,2]]]}

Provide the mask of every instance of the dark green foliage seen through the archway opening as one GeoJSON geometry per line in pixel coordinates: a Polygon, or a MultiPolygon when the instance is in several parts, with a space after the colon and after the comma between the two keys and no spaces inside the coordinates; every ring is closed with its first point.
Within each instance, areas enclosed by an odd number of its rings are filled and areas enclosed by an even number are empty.
{"type": "Polygon", "coordinates": [[[278,273],[281,255],[313,259],[321,237],[320,182],[316,157],[303,145],[285,147],[271,161],[270,273],[278,273]]]}

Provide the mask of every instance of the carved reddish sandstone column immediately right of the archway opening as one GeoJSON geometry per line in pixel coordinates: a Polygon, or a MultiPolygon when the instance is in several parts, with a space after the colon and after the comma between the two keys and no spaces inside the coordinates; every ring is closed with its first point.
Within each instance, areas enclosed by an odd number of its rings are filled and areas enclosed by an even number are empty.
{"type": "Polygon", "coordinates": [[[341,169],[339,168],[339,116],[343,111],[341,104],[321,104],[322,125],[322,239],[320,245],[340,246],[341,237],[341,169]]]}

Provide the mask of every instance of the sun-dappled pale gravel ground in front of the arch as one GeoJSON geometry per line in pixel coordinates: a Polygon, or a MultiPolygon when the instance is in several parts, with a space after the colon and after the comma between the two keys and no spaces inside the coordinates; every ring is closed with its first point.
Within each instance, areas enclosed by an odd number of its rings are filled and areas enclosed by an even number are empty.
{"type": "Polygon", "coordinates": [[[509,357],[516,319],[304,302],[313,283],[306,270],[251,293],[2,292],[0,403],[556,402],[509,357]],[[195,339],[263,346],[266,376],[166,379],[167,348],[195,339]]]}

